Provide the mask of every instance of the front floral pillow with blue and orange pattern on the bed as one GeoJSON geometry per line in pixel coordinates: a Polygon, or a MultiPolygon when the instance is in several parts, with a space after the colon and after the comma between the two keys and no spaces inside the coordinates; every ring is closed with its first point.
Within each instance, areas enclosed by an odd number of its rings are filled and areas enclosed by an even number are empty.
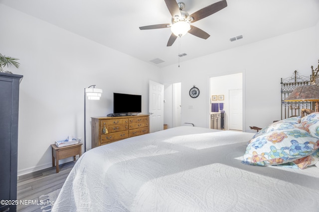
{"type": "Polygon", "coordinates": [[[276,128],[277,130],[266,130],[263,134],[253,138],[246,148],[243,163],[259,166],[290,163],[286,165],[298,168],[315,164],[318,160],[307,156],[318,152],[319,138],[301,129],[301,124],[298,125],[291,120],[288,122],[290,125],[284,120],[280,123],[276,122],[268,129],[276,128]]]}

